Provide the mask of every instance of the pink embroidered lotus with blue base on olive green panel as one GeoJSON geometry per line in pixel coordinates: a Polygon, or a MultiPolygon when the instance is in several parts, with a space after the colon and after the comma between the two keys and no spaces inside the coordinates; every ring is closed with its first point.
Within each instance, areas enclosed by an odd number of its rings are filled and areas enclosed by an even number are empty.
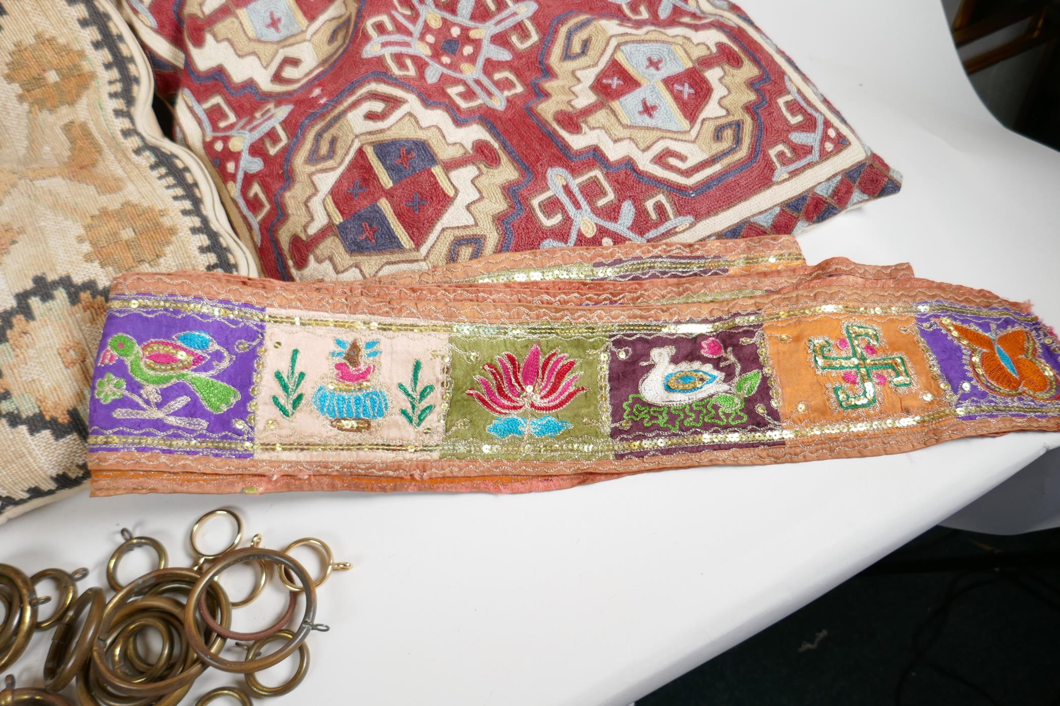
{"type": "Polygon", "coordinates": [[[536,343],[522,361],[511,352],[496,357],[482,366],[491,379],[475,376],[481,390],[467,394],[500,418],[487,429],[494,436],[555,436],[569,429],[570,422],[547,415],[529,418],[530,412],[558,412],[567,406],[586,387],[578,386],[580,374],[573,373],[578,361],[553,350],[544,358],[536,343]],[[520,416],[515,416],[520,415],[520,416]],[[524,415],[526,418],[524,418],[524,415]]]}

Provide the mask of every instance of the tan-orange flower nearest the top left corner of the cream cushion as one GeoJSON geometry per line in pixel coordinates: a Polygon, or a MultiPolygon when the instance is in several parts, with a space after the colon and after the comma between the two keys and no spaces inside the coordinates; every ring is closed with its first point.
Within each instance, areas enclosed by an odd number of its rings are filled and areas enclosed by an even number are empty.
{"type": "Polygon", "coordinates": [[[73,105],[95,78],[85,53],[41,33],[33,39],[30,44],[15,42],[3,77],[18,84],[18,99],[37,110],[73,105]]]}

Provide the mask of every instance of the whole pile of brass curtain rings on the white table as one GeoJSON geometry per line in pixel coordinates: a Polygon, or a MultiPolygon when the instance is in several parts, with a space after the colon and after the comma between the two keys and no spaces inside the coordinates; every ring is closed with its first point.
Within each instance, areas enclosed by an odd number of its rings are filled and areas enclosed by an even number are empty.
{"type": "Polygon", "coordinates": [[[54,629],[45,662],[43,689],[15,688],[11,681],[7,688],[0,690],[0,706],[63,706],[68,702],[57,692],[71,683],[75,686],[73,703],[77,706],[178,706],[209,667],[243,674],[246,686],[214,689],[200,699],[200,704],[228,696],[249,706],[250,694],[275,696],[294,690],[308,671],[310,650],[305,644],[308,633],[329,629],[314,622],[316,586],[333,571],[351,565],[333,561],[331,547],[313,538],[298,540],[284,551],[277,551],[262,548],[261,535],[254,535],[249,546],[240,548],[243,532],[243,520],[232,510],[208,512],[192,527],[194,567],[173,568],[169,567],[161,543],[149,537],[134,537],[131,531],[123,529],[123,541],[106,566],[107,583],[117,591],[109,601],[104,589],[89,589],[78,595],[76,582],[87,576],[87,569],[67,574],[49,568],[30,577],[14,566],[0,564],[0,611],[3,611],[0,669],[10,667],[23,654],[36,631],[54,629]],[[223,551],[204,554],[199,546],[200,529],[211,518],[220,515],[234,521],[234,537],[223,551]],[[324,559],[323,575],[316,581],[288,555],[304,545],[319,551],[324,559]],[[158,568],[122,585],[118,580],[119,565],[137,547],[153,549],[158,568]],[[258,580],[247,598],[232,602],[220,585],[219,576],[243,563],[258,569],[258,580]],[[289,590],[285,593],[287,605],[283,614],[264,630],[232,630],[232,609],[258,598],[273,564],[289,590]],[[51,597],[38,598],[37,586],[45,581],[54,582],[55,592],[51,597]],[[53,601],[53,611],[38,619],[38,605],[49,601],[53,601]],[[299,602],[304,603],[300,616],[299,602]],[[228,640],[241,640],[236,646],[246,650],[244,659],[220,656],[228,640]],[[261,656],[277,642],[282,642],[279,650],[261,656]],[[146,649],[148,646],[154,649],[146,649]],[[255,674],[283,662],[296,650],[299,664],[295,675],[277,687],[262,685],[255,674]]]}

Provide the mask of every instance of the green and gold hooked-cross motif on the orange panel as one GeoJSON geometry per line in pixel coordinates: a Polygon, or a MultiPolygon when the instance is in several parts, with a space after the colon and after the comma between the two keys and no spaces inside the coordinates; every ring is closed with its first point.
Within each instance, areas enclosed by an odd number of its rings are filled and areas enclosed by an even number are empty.
{"type": "Polygon", "coordinates": [[[850,394],[845,385],[834,385],[832,392],[843,410],[862,410],[877,402],[877,391],[887,384],[907,387],[913,384],[913,376],[905,357],[901,355],[880,355],[880,330],[863,324],[847,324],[846,338],[836,339],[833,355],[832,342],[828,339],[810,339],[810,352],[818,373],[842,373],[843,381],[856,385],[858,392],[850,394]]]}

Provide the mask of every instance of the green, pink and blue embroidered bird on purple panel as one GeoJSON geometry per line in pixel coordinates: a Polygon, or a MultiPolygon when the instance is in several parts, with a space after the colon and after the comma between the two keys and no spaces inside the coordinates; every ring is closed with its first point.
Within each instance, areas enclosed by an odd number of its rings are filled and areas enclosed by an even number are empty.
{"type": "MultiPolygon", "coordinates": [[[[156,398],[156,401],[160,399],[159,388],[183,382],[210,412],[219,414],[231,409],[240,399],[240,391],[208,377],[223,368],[215,367],[209,374],[195,372],[209,359],[209,352],[219,346],[202,331],[189,331],[176,338],[179,343],[154,340],[140,345],[131,336],[116,333],[107,342],[100,362],[106,364],[123,359],[129,375],[144,386],[144,396],[156,398]]],[[[228,351],[225,352],[226,359],[229,358],[228,351]]]]}

